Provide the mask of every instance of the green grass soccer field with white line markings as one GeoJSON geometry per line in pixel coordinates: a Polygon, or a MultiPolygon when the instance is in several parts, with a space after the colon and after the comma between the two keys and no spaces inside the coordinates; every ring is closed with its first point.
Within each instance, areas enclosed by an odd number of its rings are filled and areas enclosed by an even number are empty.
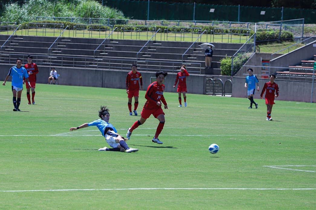
{"type": "Polygon", "coordinates": [[[315,209],[313,103],[276,101],[266,121],[264,100],[248,109],[246,98],[187,94],[178,108],[167,92],[163,144],[150,117],[127,142],[137,153],[99,152],[96,127],[69,128],[107,105],[125,135],[139,119],[125,90],[37,84],[36,105],[23,90],[13,112],[10,82],[1,88],[0,209],[315,209]]]}

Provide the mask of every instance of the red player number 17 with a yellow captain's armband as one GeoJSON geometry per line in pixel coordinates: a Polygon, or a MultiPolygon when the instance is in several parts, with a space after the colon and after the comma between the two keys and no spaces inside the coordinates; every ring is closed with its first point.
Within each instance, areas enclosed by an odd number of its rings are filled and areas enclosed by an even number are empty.
{"type": "Polygon", "coordinates": [[[134,97],[134,114],[137,116],[137,107],[138,107],[138,96],[139,96],[139,84],[140,90],[143,90],[143,78],[142,74],[137,72],[137,65],[132,64],[132,71],[129,72],[126,76],[126,93],[128,97],[128,109],[130,110],[130,115],[132,113],[132,99],[134,97]]]}

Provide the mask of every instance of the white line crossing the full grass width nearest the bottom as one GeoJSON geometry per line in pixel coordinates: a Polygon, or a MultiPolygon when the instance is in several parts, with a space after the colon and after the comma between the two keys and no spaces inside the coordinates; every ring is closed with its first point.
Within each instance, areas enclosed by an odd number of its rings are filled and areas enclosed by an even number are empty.
{"type": "Polygon", "coordinates": [[[0,192],[52,192],[96,190],[316,190],[316,188],[123,188],[123,189],[59,189],[59,190],[0,190],[0,192]]]}

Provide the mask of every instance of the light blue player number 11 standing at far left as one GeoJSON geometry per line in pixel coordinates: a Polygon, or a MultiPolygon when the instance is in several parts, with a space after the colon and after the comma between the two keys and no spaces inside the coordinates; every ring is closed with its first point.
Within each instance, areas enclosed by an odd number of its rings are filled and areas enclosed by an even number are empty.
{"type": "Polygon", "coordinates": [[[28,74],[24,67],[22,67],[22,59],[16,59],[16,66],[10,68],[10,71],[2,85],[5,85],[9,77],[12,77],[12,93],[13,93],[13,111],[21,111],[19,109],[21,103],[21,95],[23,90],[23,77],[27,81],[28,85],[30,85],[30,81],[28,80],[28,74]]]}

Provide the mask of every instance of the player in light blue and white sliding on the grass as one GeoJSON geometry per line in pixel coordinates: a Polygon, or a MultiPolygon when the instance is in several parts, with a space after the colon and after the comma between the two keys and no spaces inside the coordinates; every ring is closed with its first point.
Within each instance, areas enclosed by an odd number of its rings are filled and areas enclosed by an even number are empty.
{"type": "Polygon", "coordinates": [[[100,148],[99,151],[117,151],[117,152],[127,152],[127,153],[138,151],[138,149],[133,149],[133,148],[128,147],[127,143],[125,142],[127,141],[127,139],[120,136],[117,133],[115,127],[111,123],[109,123],[110,113],[109,113],[109,109],[107,109],[106,106],[100,107],[99,117],[101,119],[94,120],[89,123],[84,123],[76,128],[72,127],[69,130],[76,131],[80,128],[86,128],[89,126],[97,126],[100,132],[102,133],[102,136],[105,137],[106,142],[112,147],[112,148],[107,148],[107,147],[100,148]]]}

